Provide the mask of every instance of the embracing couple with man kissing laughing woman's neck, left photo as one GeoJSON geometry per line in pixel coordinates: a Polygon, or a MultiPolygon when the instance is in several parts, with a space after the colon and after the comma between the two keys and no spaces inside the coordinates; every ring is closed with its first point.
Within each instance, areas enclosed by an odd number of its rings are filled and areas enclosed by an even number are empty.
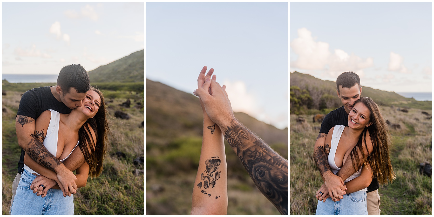
{"type": "Polygon", "coordinates": [[[64,66],[56,86],[23,94],[15,127],[22,149],[10,214],[74,214],[73,194],[102,172],[109,133],[102,93],[82,66],[64,66]]]}

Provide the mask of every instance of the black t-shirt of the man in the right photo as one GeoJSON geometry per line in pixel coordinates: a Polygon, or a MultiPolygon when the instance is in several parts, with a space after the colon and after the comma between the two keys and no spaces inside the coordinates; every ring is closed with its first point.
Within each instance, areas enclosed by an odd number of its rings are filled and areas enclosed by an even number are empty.
{"type": "MultiPolygon", "coordinates": [[[[332,127],[336,125],[344,125],[348,127],[348,114],[345,112],[344,106],[342,106],[339,109],[335,109],[329,114],[325,115],[324,120],[322,120],[321,129],[319,130],[320,133],[329,134],[329,131],[332,127]]],[[[371,184],[368,186],[368,191],[375,191],[380,187],[378,184],[377,178],[372,179],[371,184]]]]}

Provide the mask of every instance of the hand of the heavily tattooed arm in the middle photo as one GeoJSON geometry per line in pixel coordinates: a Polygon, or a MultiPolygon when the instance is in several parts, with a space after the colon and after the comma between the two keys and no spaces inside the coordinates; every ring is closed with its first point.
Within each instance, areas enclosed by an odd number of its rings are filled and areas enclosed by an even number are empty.
{"type": "MultiPolygon", "coordinates": [[[[202,69],[202,71],[204,71],[204,69],[202,69]]],[[[203,72],[203,74],[204,73],[205,72],[203,72]]],[[[213,79],[205,76],[204,84],[193,93],[201,99],[208,116],[214,123],[219,125],[220,128],[226,128],[226,126],[235,119],[225,88],[221,87],[220,84],[213,79]]]]}

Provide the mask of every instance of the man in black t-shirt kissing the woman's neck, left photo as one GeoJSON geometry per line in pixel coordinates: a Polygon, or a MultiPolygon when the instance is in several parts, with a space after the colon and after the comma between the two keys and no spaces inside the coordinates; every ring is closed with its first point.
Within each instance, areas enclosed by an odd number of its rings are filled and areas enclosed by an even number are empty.
{"type": "MultiPolygon", "coordinates": [[[[23,94],[16,114],[16,136],[20,145],[21,156],[18,162],[18,174],[13,181],[12,200],[21,178],[24,165],[24,153],[34,161],[56,172],[63,196],[76,193],[76,177],[72,173],[84,163],[84,157],[79,148],[76,148],[65,162],[60,162],[45,146],[34,137],[35,121],[39,115],[53,109],[68,114],[72,109],[82,105],[86,93],[90,89],[89,75],[83,66],[73,64],[64,66],[57,78],[56,86],[39,87],[23,94]],[[63,187],[63,188],[62,188],[63,187]]],[[[44,190],[48,191],[48,189],[44,190]]],[[[44,192],[46,193],[46,192],[44,192]]]]}

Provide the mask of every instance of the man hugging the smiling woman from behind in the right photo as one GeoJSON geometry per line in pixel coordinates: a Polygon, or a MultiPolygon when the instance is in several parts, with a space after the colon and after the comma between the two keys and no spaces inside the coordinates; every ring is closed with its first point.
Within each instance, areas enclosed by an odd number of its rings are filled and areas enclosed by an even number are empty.
{"type": "MultiPolygon", "coordinates": [[[[328,197],[332,197],[333,201],[339,201],[342,199],[342,195],[345,194],[346,187],[344,181],[355,173],[355,168],[352,165],[351,158],[347,158],[345,164],[335,175],[332,173],[329,167],[329,162],[327,160],[328,150],[330,147],[325,145],[325,137],[329,133],[330,128],[335,125],[348,126],[348,115],[354,106],[354,102],[360,98],[362,95],[362,86],[360,85],[360,78],[354,72],[344,72],[338,79],[336,79],[336,92],[338,97],[341,99],[342,107],[329,112],[322,121],[321,129],[319,131],[318,138],[316,138],[314,147],[314,157],[316,165],[325,180],[325,186],[328,191],[322,192],[323,195],[320,196],[320,200],[328,197]]],[[[367,149],[364,147],[365,158],[372,152],[372,141],[366,139],[367,149]]],[[[361,162],[364,158],[359,155],[361,162]]],[[[359,169],[359,168],[358,168],[359,169]]],[[[357,170],[358,170],[357,169],[357,170]]],[[[379,184],[376,178],[374,178],[368,187],[367,191],[367,207],[369,215],[379,215],[380,214],[380,195],[378,194],[379,184]]]]}

